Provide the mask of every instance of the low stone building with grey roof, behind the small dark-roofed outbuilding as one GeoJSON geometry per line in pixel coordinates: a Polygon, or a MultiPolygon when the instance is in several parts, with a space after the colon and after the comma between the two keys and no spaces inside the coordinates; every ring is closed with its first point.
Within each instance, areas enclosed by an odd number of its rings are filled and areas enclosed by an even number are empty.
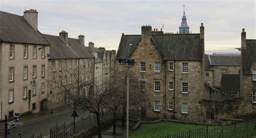
{"type": "Polygon", "coordinates": [[[205,82],[219,89],[223,74],[239,74],[240,58],[236,53],[205,55],[205,82]]]}

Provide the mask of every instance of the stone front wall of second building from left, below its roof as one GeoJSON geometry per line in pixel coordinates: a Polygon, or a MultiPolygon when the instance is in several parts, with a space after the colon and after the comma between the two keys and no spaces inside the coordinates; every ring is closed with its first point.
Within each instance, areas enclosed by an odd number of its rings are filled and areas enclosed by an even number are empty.
{"type": "Polygon", "coordinates": [[[48,63],[48,108],[59,107],[65,102],[71,100],[65,95],[64,90],[76,88],[76,85],[84,85],[82,90],[85,95],[89,91],[89,87],[94,82],[94,59],[69,59],[69,60],[49,60],[48,63]],[[53,71],[53,61],[55,61],[55,71],[53,71]],[[62,61],[62,68],[59,69],[59,61],[62,61]],[[67,68],[65,69],[65,61],[67,68]],[[71,62],[72,61],[72,67],[71,62]],[[77,63],[76,63],[77,62],[77,63]],[[83,66],[84,64],[84,66],[83,66]],[[79,70],[79,71],[78,71],[79,70]],[[78,78],[79,72],[79,78],[78,78]],[[72,78],[71,78],[72,75],[72,78]],[[62,85],[59,84],[59,77],[62,77],[62,85]],[[67,77],[65,84],[65,77],[67,77]],[[55,78],[55,88],[53,88],[52,79],[55,78]],[[72,81],[71,81],[72,80],[72,81]]]}

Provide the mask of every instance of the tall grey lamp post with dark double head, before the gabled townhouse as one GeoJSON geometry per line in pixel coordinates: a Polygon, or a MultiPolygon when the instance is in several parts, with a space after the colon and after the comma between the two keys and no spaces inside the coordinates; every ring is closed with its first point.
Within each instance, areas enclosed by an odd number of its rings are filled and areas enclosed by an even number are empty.
{"type": "Polygon", "coordinates": [[[133,59],[122,59],[119,60],[119,63],[122,66],[125,66],[127,64],[127,72],[126,72],[126,76],[127,76],[127,91],[126,91],[126,138],[129,138],[129,67],[134,66],[135,61],[133,59]]]}

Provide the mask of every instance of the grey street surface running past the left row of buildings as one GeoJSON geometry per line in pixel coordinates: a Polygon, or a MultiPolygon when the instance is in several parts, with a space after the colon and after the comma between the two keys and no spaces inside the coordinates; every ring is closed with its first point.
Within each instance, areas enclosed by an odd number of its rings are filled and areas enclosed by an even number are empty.
{"type": "MultiPolygon", "coordinates": [[[[26,115],[19,119],[19,122],[23,122],[24,125],[18,126],[14,129],[9,130],[10,133],[20,133],[21,137],[28,138],[32,134],[35,136],[42,133],[42,137],[50,135],[50,128],[53,126],[69,124],[73,122],[73,117],[71,117],[73,110],[71,106],[62,107],[59,111],[59,108],[51,111],[45,111],[35,114],[26,115]]],[[[76,121],[80,118],[87,116],[89,113],[85,111],[77,111],[78,117],[76,121]]],[[[4,128],[4,122],[0,122],[0,129],[4,128]]],[[[0,138],[4,137],[4,130],[0,130],[0,138]]],[[[8,137],[17,138],[19,136],[8,135],[8,137]]]]}

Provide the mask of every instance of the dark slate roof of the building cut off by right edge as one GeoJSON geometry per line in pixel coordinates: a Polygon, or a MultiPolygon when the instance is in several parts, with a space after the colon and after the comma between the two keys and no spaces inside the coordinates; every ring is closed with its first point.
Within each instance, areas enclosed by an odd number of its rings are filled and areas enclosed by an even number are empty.
{"type": "Polygon", "coordinates": [[[246,39],[246,49],[242,49],[242,72],[250,75],[251,66],[256,61],[256,39],[246,39]]]}

